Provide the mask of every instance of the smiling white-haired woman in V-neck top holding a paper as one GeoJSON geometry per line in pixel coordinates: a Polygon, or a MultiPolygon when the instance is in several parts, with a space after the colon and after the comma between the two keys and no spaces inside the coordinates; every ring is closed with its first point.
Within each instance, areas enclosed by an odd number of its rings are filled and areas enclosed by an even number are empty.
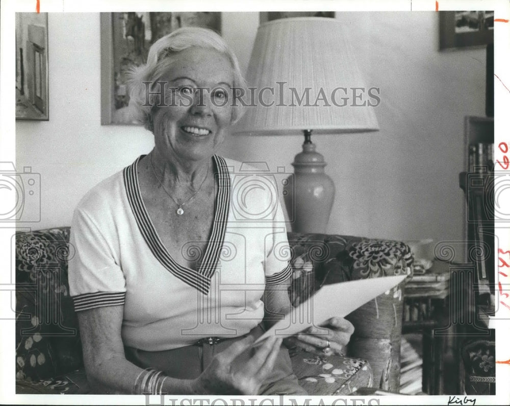
{"type": "MultiPolygon", "coordinates": [[[[234,189],[256,177],[215,155],[240,117],[236,57],[214,32],[183,28],[152,45],[132,82],[155,147],[94,187],[71,228],[70,293],[92,387],[305,394],[281,339],[252,346],[290,311],[291,268],[277,197],[255,188],[238,200],[234,189]]],[[[290,342],[341,351],[352,330],[334,318],[327,336],[290,342]]]]}

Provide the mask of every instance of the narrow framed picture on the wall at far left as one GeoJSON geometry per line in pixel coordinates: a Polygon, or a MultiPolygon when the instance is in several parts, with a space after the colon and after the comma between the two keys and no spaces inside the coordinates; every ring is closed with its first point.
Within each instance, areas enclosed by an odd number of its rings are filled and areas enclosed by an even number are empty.
{"type": "Polygon", "coordinates": [[[48,14],[15,13],[16,119],[48,120],[48,14]]]}

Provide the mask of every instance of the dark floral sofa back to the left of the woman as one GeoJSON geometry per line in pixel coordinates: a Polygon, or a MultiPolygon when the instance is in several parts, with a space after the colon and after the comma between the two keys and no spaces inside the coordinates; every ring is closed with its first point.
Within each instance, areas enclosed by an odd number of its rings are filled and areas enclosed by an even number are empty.
{"type": "Polygon", "coordinates": [[[69,296],[69,227],[17,232],[16,378],[49,379],[83,366],[78,320],[69,296]],[[51,312],[49,310],[52,310],[51,312]]]}

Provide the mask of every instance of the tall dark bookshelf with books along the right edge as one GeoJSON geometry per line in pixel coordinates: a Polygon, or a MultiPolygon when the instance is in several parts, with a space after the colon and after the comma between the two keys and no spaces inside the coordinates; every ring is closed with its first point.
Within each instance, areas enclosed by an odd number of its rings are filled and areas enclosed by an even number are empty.
{"type": "MultiPolygon", "coordinates": [[[[460,389],[467,394],[493,394],[494,372],[472,376],[465,352],[470,346],[488,349],[494,331],[488,316],[494,315],[494,118],[467,116],[464,119],[464,171],[459,186],[466,198],[466,263],[457,290],[464,306],[456,326],[460,357],[460,389]],[[465,365],[466,364],[466,365],[465,365]],[[476,380],[478,379],[478,380],[476,380]],[[481,380],[480,380],[481,379],[481,380]]],[[[491,347],[492,348],[492,347],[491,347]]]]}

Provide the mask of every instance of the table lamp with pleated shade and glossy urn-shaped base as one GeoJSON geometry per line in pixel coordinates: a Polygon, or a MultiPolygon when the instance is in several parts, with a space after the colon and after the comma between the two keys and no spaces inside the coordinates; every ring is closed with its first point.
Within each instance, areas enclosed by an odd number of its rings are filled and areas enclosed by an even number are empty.
{"type": "Polygon", "coordinates": [[[335,18],[283,18],[258,29],[246,74],[250,100],[233,134],[304,134],[283,192],[294,232],[324,233],[335,196],[312,134],[378,130],[378,91],[365,88],[353,55],[335,18]]]}

